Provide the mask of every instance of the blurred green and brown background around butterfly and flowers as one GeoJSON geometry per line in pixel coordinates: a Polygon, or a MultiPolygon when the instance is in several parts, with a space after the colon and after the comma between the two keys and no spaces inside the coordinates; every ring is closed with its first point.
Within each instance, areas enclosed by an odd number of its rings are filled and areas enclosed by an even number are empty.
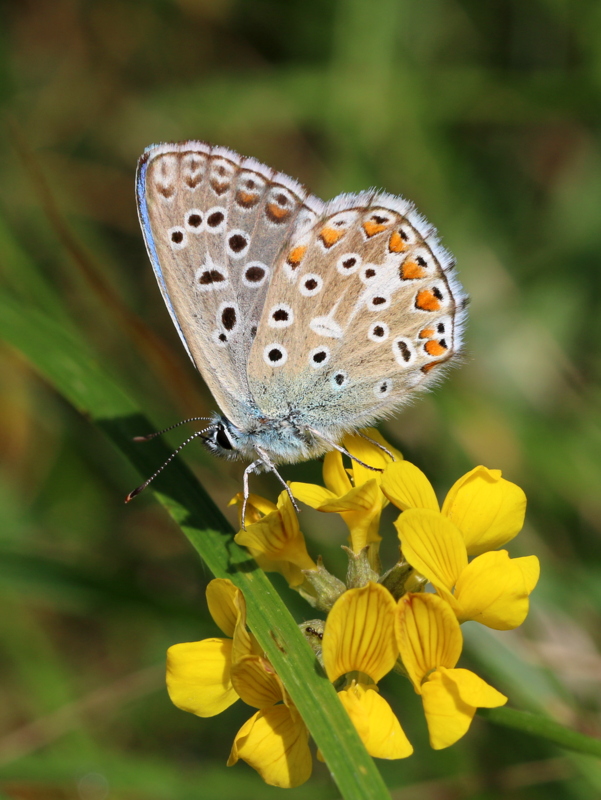
{"type": "MultiPolygon", "coordinates": [[[[144,251],[145,146],[206,139],[324,198],[376,185],[417,203],[472,298],[467,355],[382,431],[441,497],[479,463],[524,487],[510,550],[542,561],[531,615],[464,626],[464,664],[601,735],[601,4],[8,2],[0,64],[2,292],[75,326],[157,427],[214,406],[144,251]]],[[[225,767],[248,708],[201,720],[164,689],[166,648],[217,633],[211,576],[151,493],[123,505],[139,476],[8,345],[0,384],[0,797],[274,797],[225,767]]],[[[225,507],[242,466],[185,458],[225,507]]],[[[301,522],[342,568],[342,526],[301,522]]],[[[379,762],[395,800],[601,797],[598,761],[482,720],[435,753],[408,684],[383,691],[416,746],[379,762]]],[[[287,796],[337,791],[318,765],[287,796]]]]}

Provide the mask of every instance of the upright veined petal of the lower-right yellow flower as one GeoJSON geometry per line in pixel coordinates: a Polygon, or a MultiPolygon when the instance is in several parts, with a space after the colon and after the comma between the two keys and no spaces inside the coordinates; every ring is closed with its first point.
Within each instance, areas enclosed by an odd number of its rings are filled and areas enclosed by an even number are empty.
{"type": "Polygon", "coordinates": [[[453,610],[434,594],[406,594],[399,600],[396,637],[403,665],[415,691],[437,667],[454,667],[463,647],[463,637],[453,610]]]}

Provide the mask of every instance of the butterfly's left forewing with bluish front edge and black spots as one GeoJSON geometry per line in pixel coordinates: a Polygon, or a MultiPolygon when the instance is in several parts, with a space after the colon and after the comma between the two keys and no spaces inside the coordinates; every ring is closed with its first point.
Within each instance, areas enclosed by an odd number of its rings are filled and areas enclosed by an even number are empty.
{"type": "Polygon", "coordinates": [[[175,327],[222,411],[244,426],[253,406],[248,356],[273,265],[323,203],[258,161],[203,142],[149,148],[137,199],[175,327]]]}

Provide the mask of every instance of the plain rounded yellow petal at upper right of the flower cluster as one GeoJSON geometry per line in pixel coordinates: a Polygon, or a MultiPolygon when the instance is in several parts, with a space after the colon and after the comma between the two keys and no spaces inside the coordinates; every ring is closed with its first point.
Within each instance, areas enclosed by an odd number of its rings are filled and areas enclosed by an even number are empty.
{"type": "Polygon", "coordinates": [[[457,525],[468,554],[475,556],[501,547],[521,531],[526,495],[502,478],[500,469],[475,467],[451,487],[442,513],[457,525]]]}

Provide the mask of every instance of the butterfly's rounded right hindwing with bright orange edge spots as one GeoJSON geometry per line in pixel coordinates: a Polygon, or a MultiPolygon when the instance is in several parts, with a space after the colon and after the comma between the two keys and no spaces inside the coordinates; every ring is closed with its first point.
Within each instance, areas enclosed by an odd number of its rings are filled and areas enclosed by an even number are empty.
{"type": "Polygon", "coordinates": [[[257,405],[302,408],[305,424],[335,437],[426,388],[461,347],[453,266],[402,198],[328,202],[275,265],[248,365],[257,405]]]}

